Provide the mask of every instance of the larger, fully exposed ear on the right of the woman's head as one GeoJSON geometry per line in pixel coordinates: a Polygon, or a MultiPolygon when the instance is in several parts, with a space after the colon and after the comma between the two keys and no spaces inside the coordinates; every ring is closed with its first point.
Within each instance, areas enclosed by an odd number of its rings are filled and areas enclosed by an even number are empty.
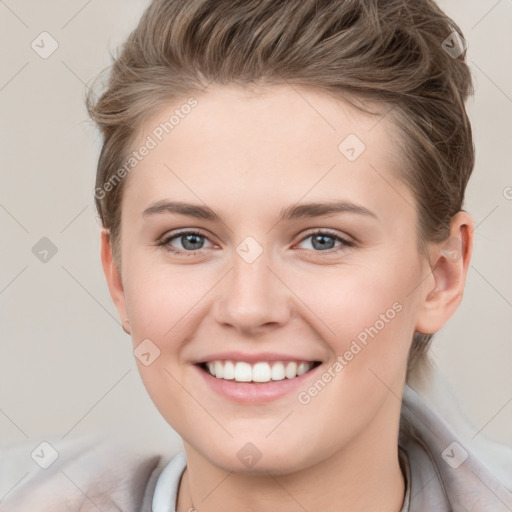
{"type": "Polygon", "coordinates": [[[459,307],[473,251],[474,229],[471,216],[460,211],[452,219],[448,238],[429,248],[432,275],[421,289],[416,331],[439,331],[459,307]]]}

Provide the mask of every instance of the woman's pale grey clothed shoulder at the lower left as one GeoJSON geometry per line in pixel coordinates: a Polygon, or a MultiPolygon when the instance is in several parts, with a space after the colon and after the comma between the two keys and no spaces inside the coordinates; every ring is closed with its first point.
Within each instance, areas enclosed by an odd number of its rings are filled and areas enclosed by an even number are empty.
{"type": "Polygon", "coordinates": [[[0,510],[139,512],[172,455],[98,435],[10,445],[0,450],[0,510]]]}

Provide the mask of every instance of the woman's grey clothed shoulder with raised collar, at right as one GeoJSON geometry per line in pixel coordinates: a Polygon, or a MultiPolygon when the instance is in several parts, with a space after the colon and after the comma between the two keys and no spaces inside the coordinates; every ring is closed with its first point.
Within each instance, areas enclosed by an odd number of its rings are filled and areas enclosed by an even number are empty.
{"type": "MultiPolygon", "coordinates": [[[[401,420],[400,445],[409,459],[411,492],[417,495],[417,505],[424,501],[435,502],[439,510],[512,510],[510,468],[491,467],[462,430],[456,432],[409,386],[404,390],[401,420]]],[[[512,449],[500,448],[512,457],[512,449]]]]}

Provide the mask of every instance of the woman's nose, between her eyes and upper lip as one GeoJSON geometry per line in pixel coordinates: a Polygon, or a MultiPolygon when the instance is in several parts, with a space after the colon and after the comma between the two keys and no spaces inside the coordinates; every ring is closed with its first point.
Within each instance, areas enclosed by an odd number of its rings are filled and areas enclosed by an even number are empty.
{"type": "Polygon", "coordinates": [[[234,255],[233,268],[222,280],[215,300],[219,324],[256,335],[288,321],[293,294],[269,263],[265,252],[252,263],[234,255]]]}

